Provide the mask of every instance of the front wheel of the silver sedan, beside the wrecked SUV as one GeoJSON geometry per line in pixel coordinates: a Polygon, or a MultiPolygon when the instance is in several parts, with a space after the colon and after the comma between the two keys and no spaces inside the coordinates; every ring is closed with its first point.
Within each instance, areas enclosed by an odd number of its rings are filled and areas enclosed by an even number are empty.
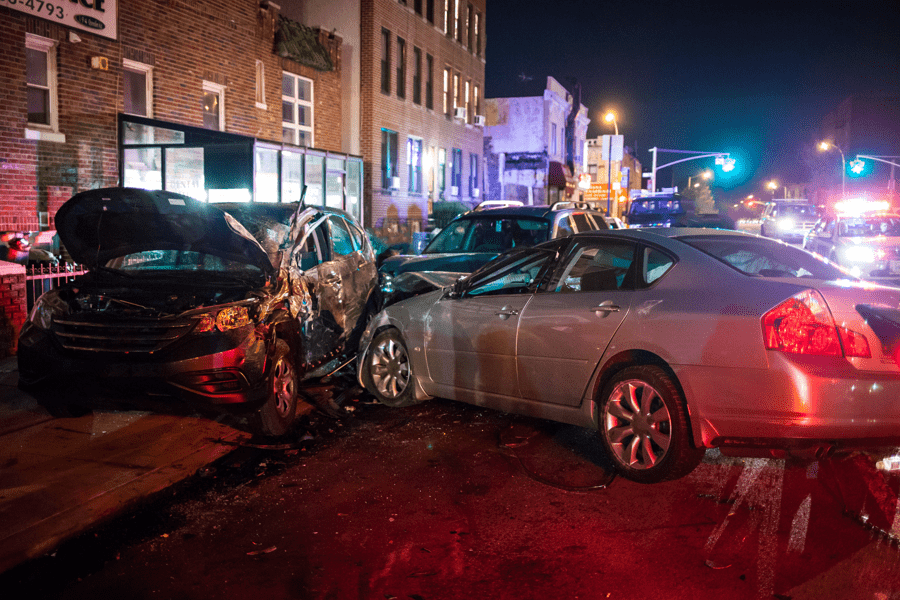
{"type": "Polygon", "coordinates": [[[416,404],[412,363],[399,331],[387,329],[376,335],[362,368],[363,383],[379,402],[395,408],[416,404]]]}

